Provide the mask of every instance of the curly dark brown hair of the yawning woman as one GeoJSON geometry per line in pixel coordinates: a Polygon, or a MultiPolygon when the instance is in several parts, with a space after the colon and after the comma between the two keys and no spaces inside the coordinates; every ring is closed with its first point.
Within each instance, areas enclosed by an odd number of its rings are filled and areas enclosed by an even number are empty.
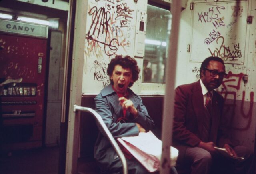
{"type": "MultiPolygon", "coordinates": [[[[109,77],[112,76],[114,68],[116,65],[122,66],[122,68],[130,68],[132,71],[132,80],[133,82],[130,82],[128,85],[131,87],[134,82],[136,82],[139,78],[140,68],[137,65],[137,61],[134,58],[131,58],[130,56],[122,56],[122,55],[116,55],[115,58],[113,58],[110,63],[108,64],[107,74],[109,77]]],[[[110,80],[111,84],[113,84],[113,80],[110,80]]]]}

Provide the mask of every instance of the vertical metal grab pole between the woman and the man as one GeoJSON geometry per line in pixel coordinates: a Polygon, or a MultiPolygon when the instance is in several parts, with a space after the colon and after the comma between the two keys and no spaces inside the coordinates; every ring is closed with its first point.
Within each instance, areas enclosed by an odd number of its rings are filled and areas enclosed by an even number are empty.
{"type": "Polygon", "coordinates": [[[169,54],[166,61],[166,90],[164,96],[164,115],[162,120],[162,157],[160,174],[170,173],[170,146],[172,144],[172,124],[174,112],[174,82],[176,76],[176,59],[180,26],[180,0],[172,0],[172,28],[169,41],[169,54]]]}

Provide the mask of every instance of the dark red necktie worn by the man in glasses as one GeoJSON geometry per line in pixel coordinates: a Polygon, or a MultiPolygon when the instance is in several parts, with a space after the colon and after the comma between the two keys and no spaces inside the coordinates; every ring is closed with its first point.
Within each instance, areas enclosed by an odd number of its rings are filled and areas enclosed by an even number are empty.
{"type": "Polygon", "coordinates": [[[204,142],[209,141],[210,127],[212,124],[212,93],[206,93],[206,101],[204,105],[204,122],[203,122],[203,131],[202,131],[202,140],[204,142]]]}

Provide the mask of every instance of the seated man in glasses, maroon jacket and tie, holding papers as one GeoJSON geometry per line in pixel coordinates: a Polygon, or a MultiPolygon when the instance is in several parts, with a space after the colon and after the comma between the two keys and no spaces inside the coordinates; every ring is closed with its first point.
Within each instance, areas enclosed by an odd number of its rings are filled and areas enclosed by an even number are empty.
{"type": "Polygon", "coordinates": [[[175,90],[173,146],[179,150],[176,165],[179,174],[252,172],[252,152],[244,146],[235,146],[224,134],[227,128],[222,122],[224,99],[214,89],[226,75],[223,60],[208,57],[201,64],[200,80],[175,90]],[[230,156],[223,156],[215,147],[226,149],[230,156]]]}

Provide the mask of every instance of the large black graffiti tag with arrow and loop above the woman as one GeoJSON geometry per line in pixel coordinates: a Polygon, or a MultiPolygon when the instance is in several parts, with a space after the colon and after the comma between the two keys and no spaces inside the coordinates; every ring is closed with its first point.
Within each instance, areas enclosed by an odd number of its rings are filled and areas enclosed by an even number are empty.
{"type": "Polygon", "coordinates": [[[98,42],[97,44],[104,48],[104,52],[108,56],[115,54],[118,50],[119,43],[117,39],[110,38],[108,24],[110,21],[110,12],[106,11],[104,7],[98,9],[94,6],[90,9],[89,15],[92,16],[92,24],[86,34],[87,41],[89,42],[89,40],[93,40],[98,42]],[[103,35],[103,38],[99,37],[100,34],[103,35]]]}

